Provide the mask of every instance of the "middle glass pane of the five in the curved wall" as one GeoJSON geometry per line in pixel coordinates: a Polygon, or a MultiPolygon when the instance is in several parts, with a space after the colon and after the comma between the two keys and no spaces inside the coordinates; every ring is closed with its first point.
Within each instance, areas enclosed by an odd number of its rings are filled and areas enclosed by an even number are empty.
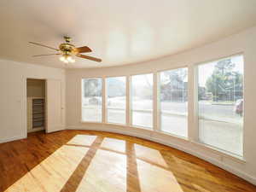
{"type": "Polygon", "coordinates": [[[132,125],[153,127],[153,74],[131,77],[132,125]]]}

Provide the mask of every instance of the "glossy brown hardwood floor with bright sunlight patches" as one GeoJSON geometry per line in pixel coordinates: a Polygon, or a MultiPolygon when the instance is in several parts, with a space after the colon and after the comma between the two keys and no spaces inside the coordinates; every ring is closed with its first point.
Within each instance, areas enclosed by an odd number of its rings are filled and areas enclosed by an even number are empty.
{"type": "Polygon", "coordinates": [[[255,192],[256,186],[159,143],[59,131],[0,144],[0,191],[255,192]]]}

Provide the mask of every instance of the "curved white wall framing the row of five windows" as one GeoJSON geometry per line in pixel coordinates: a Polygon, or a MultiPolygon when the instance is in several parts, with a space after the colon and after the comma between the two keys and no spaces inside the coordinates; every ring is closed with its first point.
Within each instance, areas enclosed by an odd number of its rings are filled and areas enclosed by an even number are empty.
{"type": "Polygon", "coordinates": [[[68,69],[67,70],[67,128],[114,131],[137,137],[148,138],[195,154],[215,165],[234,172],[236,175],[256,184],[256,27],[207,44],[201,48],[191,49],[182,54],[168,56],[159,60],[147,61],[123,67],[68,69]],[[195,65],[203,61],[216,60],[221,57],[243,53],[245,60],[245,124],[244,124],[244,160],[207,148],[197,143],[197,125],[194,106],[195,65]],[[81,79],[109,76],[129,76],[137,73],[157,73],[159,70],[175,67],[189,67],[189,140],[163,135],[160,132],[139,130],[130,126],[81,123],[81,79]]]}

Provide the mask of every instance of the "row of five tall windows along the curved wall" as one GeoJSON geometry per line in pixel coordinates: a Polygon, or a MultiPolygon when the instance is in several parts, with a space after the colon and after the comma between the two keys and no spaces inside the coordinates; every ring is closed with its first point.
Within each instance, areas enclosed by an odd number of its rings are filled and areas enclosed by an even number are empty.
{"type": "MultiPolygon", "coordinates": [[[[243,155],[243,66],[243,56],[235,55],[196,67],[198,127],[189,126],[198,131],[200,143],[239,156],[243,155]]],[[[160,131],[188,137],[187,67],[160,72],[156,82],[153,73],[132,75],[130,112],[126,83],[126,77],[106,78],[102,103],[102,79],[82,79],[82,121],[102,122],[104,115],[107,123],[153,131],[155,114],[160,131]],[[153,98],[154,83],[158,98],[153,98]],[[157,111],[153,110],[154,99],[157,111]],[[126,117],[130,117],[128,122],[126,117]]]]}

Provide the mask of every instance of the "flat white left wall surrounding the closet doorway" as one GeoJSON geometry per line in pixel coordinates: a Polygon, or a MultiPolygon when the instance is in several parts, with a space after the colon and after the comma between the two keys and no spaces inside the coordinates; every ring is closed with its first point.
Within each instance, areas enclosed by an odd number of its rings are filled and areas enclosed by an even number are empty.
{"type": "Polygon", "coordinates": [[[26,79],[61,79],[65,70],[0,60],[0,143],[26,137],[26,79]]]}

